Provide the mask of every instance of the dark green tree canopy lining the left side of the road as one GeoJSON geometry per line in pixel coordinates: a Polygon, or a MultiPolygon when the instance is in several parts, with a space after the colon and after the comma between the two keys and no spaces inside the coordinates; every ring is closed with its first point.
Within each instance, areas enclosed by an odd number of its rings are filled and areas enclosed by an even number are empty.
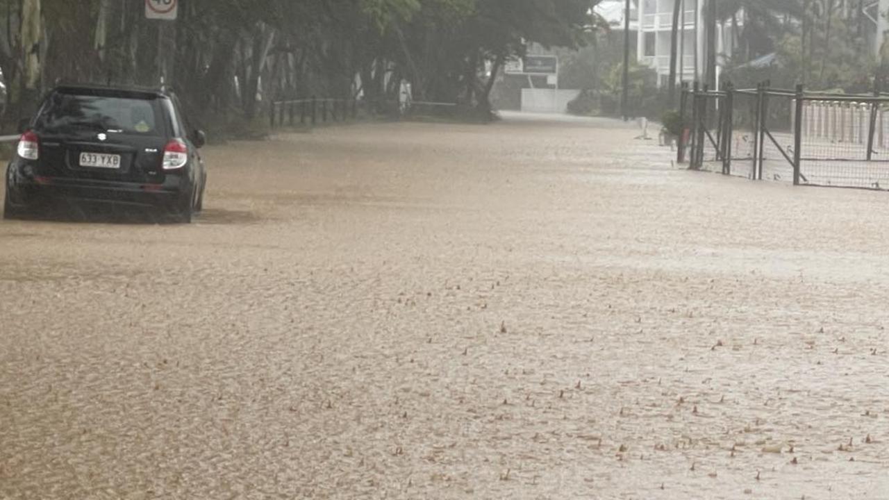
{"type": "Polygon", "coordinates": [[[0,0],[0,69],[13,108],[60,80],[167,81],[202,116],[255,115],[261,101],[415,98],[486,108],[493,78],[525,45],[577,47],[598,0],[0,0]],[[170,55],[164,55],[170,54],[170,55]]]}

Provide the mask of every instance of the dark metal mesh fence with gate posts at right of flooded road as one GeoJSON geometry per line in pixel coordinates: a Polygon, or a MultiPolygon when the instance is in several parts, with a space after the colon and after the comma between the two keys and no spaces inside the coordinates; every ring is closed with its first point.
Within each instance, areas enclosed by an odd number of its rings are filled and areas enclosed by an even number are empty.
{"type": "Polygon", "coordinates": [[[678,159],[694,169],[796,185],[889,189],[889,97],[807,93],[767,84],[683,87],[687,133],[678,159]],[[690,104],[689,104],[690,103],[690,104]],[[689,116],[690,113],[690,116],[689,116]]]}

